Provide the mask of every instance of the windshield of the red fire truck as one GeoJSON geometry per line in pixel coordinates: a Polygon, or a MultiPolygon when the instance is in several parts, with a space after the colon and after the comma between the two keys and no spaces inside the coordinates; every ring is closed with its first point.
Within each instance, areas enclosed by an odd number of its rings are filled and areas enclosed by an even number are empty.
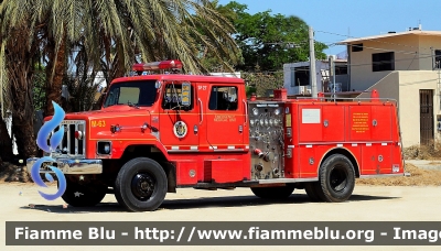
{"type": "Polygon", "coordinates": [[[118,83],[110,86],[104,107],[128,105],[151,107],[157,98],[157,80],[137,80],[118,83]]]}

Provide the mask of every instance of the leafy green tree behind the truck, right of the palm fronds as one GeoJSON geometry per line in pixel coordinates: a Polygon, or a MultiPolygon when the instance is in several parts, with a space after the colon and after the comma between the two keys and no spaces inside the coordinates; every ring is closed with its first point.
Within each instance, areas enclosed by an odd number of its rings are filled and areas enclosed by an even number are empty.
{"type": "MultiPolygon", "coordinates": [[[[244,58],[237,69],[279,70],[286,63],[309,59],[309,26],[300,18],[272,14],[270,10],[249,14],[246,4],[235,1],[217,9],[227,13],[237,31],[234,37],[244,58]]],[[[315,42],[314,46],[316,58],[324,59],[326,45],[315,42]]]]}

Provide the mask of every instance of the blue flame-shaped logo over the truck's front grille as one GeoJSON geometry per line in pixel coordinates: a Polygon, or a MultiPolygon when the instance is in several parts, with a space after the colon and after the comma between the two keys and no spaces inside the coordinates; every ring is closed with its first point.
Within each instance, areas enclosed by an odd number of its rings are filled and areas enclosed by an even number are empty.
{"type": "MultiPolygon", "coordinates": [[[[64,127],[60,127],[60,130],[56,131],[55,133],[52,134],[50,139],[50,145],[47,145],[47,139],[51,135],[51,132],[61,124],[61,122],[64,119],[65,112],[63,108],[61,108],[56,102],[52,101],[52,105],[54,106],[54,116],[52,119],[43,124],[43,127],[40,129],[39,134],[36,137],[36,144],[39,145],[40,149],[42,149],[46,153],[52,153],[53,150],[55,150],[63,141],[64,137],[64,127]]],[[[44,162],[55,162],[54,159],[51,156],[44,156],[39,159],[31,168],[31,177],[34,181],[34,183],[41,187],[47,187],[47,185],[43,182],[43,179],[40,176],[40,168],[41,165],[44,162]]],[[[41,190],[39,190],[40,195],[47,199],[47,200],[54,200],[58,197],[61,197],[64,192],[66,190],[66,178],[64,177],[64,174],[61,170],[58,170],[55,166],[47,166],[50,167],[54,174],[56,175],[58,179],[58,190],[55,194],[45,194],[41,190]]],[[[54,178],[50,173],[45,174],[45,177],[49,182],[54,182],[54,178]]]]}

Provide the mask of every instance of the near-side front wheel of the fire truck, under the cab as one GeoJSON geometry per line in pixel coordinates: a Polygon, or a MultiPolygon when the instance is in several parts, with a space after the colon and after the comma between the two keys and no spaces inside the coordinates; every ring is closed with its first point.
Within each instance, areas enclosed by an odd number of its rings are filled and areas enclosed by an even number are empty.
{"type": "Polygon", "coordinates": [[[158,162],[137,157],[127,162],[115,181],[115,196],[130,211],[153,211],[165,198],[168,179],[158,162]]]}

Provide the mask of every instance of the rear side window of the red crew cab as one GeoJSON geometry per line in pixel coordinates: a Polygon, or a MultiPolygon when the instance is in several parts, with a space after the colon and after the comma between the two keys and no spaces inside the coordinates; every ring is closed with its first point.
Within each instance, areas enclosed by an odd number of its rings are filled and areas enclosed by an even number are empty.
{"type": "Polygon", "coordinates": [[[237,87],[213,86],[208,101],[209,110],[237,110],[237,87]]]}

